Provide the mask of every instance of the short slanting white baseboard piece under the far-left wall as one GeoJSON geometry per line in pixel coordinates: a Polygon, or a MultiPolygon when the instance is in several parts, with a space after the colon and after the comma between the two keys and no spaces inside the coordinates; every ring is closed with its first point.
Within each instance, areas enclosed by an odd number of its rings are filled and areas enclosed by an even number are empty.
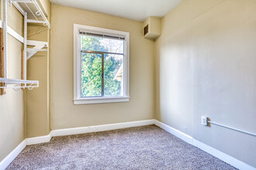
{"type": "Polygon", "coordinates": [[[26,147],[26,140],[22,141],[15,149],[7,155],[2,162],[0,162],[0,169],[5,169],[8,165],[19,155],[19,153],[26,147]]]}

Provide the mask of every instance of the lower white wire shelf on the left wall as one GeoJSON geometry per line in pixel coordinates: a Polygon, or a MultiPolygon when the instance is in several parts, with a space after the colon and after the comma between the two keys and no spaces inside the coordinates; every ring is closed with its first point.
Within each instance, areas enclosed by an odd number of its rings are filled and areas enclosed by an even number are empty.
{"type": "Polygon", "coordinates": [[[19,90],[21,88],[28,88],[32,90],[34,87],[39,87],[39,81],[37,80],[18,80],[18,79],[8,79],[8,78],[1,78],[0,83],[5,83],[3,88],[13,88],[14,90],[19,90]]]}

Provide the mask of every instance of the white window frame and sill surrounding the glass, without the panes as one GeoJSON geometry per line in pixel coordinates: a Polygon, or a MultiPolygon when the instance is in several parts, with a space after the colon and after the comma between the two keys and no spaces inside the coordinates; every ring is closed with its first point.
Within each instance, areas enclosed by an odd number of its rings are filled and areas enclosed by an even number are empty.
{"type": "Polygon", "coordinates": [[[116,102],[128,102],[129,73],[130,73],[130,33],[113,29],[102,29],[94,26],[74,24],[74,104],[104,104],[116,102]],[[79,32],[98,33],[109,36],[121,36],[125,38],[123,55],[123,96],[122,97],[81,97],[81,53],[79,32]]]}

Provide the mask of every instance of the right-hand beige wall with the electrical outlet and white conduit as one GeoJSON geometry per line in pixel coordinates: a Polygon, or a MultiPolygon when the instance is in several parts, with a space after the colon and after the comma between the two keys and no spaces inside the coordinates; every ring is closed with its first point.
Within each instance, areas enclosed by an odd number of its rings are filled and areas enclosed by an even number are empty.
{"type": "Polygon", "coordinates": [[[256,167],[256,1],[185,0],[155,44],[157,119],[256,167]]]}

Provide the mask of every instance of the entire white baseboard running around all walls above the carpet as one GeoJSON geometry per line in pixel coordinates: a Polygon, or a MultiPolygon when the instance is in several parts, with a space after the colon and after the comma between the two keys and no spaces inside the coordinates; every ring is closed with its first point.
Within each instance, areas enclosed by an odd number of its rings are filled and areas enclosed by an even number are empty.
{"type": "Polygon", "coordinates": [[[5,169],[16,158],[16,156],[19,155],[19,153],[26,147],[26,145],[35,145],[35,144],[40,144],[44,142],[49,142],[50,139],[54,136],[84,134],[84,133],[97,132],[97,131],[109,131],[109,130],[122,129],[122,128],[145,126],[150,124],[157,125],[159,128],[162,128],[165,131],[168,131],[170,134],[173,134],[176,137],[181,138],[183,141],[186,141],[187,143],[194,145],[195,147],[200,148],[203,151],[208,152],[210,155],[213,155],[216,158],[220,158],[220,160],[222,160],[223,162],[227,162],[228,164],[234,166],[235,168],[239,168],[242,170],[256,169],[251,165],[247,165],[246,163],[241,162],[240,160],[237,160],[237,158],[231,157],[230,155],[227,155],[222,151],[218,151],[217,149],[212,148],[209,145],[203,144],[202,142],[195,140],[188,134],[183,133],[182,131],[178,131],[175,128],[171,128],[167,124],[161,123],[161,121],[157,121],[154,119],[146,120],[146,121],[131,121],[131,122],[125,122],[125,123],[119,123],[119,124],[104,124],[104,125],[82,127],[82,128],[58,129],[58,130],[50,131],[50,134],[46,136],[26,138],[8,156],[6,156],[2,160],[2,162],[0,162],[0,169],[5,169]]]}

